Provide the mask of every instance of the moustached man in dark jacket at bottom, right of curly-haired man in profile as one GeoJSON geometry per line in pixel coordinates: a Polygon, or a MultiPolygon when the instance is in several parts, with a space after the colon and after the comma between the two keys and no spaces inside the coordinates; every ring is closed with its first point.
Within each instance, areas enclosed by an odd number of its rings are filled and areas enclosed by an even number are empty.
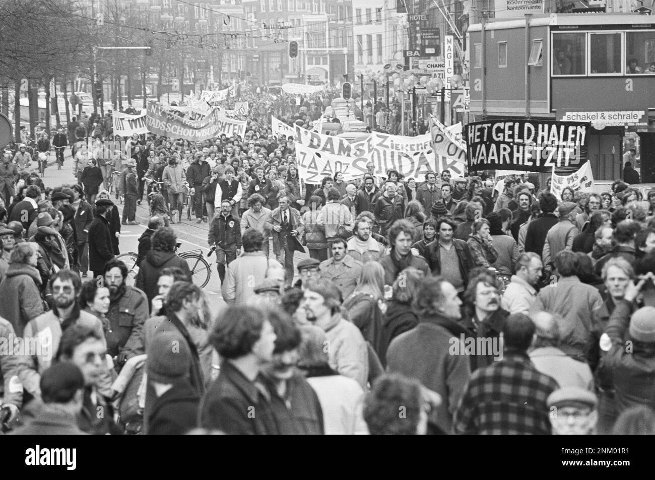
{"type": "Polygon", "coordinates": [[[271,394],[272,413],[283,435],[323,435],[323,411],[318,396],[296,369],[302,336],[288,316],[271,318],[275,350],[261,367],[261,378],[271,394]]]}

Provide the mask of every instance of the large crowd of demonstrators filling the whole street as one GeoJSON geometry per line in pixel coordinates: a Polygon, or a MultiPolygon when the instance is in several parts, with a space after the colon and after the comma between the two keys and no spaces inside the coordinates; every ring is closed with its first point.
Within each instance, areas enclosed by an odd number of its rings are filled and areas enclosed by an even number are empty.
{"type": "Polygon", "coordinates": [[[60,130],[64,185],[5,155],[3,430],[655,433],[655,189],[373,164],[311,185],[270,116],[311,128],[329,96],[244,95],[243,138],[60,130]],[[115,257],[138,205],[132,284],[115,257]],[[183,215],[207,225],[219,312],[176,254],[183,215]]]}

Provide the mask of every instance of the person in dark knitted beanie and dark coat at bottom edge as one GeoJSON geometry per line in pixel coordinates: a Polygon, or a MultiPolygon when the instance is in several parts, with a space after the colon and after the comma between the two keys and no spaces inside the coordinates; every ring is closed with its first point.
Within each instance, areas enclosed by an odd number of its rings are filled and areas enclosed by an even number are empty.
{"type": "Polygon", "coordinates": [[[148,382],[157,398],[145,422],[149,435],[185,434],[196,426],[200,395],[189,383],[191,349],[178,331],[155,335],[147,352],[148,382]]]}

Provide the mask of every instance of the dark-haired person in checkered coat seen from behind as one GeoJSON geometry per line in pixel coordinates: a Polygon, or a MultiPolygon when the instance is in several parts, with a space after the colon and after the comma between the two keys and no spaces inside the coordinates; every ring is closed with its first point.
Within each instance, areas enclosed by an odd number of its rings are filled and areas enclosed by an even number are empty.
{"type": "Polygon", "coordinates": [[[530,361],[533,336],[528,316],[507,318],[502,360],[472,373],[453,422],[456,434],[550,434],[546,401],[559,385],[530,361]]]}

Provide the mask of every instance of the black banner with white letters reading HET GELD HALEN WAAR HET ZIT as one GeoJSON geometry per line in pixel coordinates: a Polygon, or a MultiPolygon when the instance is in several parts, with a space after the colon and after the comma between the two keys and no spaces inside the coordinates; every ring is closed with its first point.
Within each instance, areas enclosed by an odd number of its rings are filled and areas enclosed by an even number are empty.
{"type": "Polygon", "coordinates": [[[469,172],[521,170],[569,175],[587,161],[589,123],[485,120],[464,128],[469,172]]]}

